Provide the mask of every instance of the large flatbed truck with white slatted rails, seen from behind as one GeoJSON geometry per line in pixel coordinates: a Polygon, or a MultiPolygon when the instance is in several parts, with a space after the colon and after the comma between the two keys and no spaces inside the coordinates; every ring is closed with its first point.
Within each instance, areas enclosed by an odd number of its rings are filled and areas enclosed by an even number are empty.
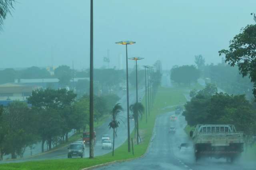
{"type": "Polygon", "coordinates": [[[196,125],[190,137],[196,161],[202,157],[226,158],[233,162],[243,152],[244,133],[234,125],[196,125]]]}

